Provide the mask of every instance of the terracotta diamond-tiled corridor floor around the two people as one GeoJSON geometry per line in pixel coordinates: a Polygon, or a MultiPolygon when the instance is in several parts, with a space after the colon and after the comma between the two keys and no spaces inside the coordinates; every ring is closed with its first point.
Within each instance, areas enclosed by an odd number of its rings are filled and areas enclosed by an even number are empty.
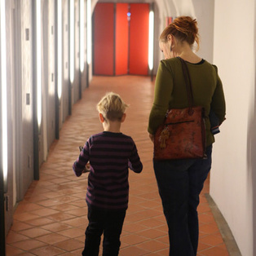
{"type": "MultiPolygon", "coordinates": [[[[78,146],[102,130],[95,104],[106,91],[119,93],[126,103],[122,132],[135,139],[143,161],[143,172],[130,172],[130,204],[121,234],[120,255],[168,255],[166,221],[152,170],[152,143],[148,139],[148,114],[152,106],[153,82],[149,77],[94,77],[82,100],[73,106],[60,140],[55,141],[14,214],[7,236],[7,255],[81,255],[86,229],[86,179],[73,174],[78,146]]],[[[198,255],[228,255],[204,194],[199,205],[198,255]]]]}

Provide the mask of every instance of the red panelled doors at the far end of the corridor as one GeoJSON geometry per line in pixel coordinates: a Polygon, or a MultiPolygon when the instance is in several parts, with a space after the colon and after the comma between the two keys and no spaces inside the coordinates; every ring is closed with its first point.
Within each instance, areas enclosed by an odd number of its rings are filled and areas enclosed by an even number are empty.
{"type": "Polygon", "coordinates": [[[97,3],[94,75],[148,75],[148,19],[148,3],[97,3]]]}

